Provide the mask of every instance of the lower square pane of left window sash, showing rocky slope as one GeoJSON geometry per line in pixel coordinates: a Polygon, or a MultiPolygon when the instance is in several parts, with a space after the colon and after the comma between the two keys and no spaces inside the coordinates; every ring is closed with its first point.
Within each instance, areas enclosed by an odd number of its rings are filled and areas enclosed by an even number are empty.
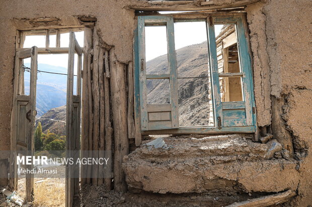
{"type": "Polygon", "coordinates": [[[170,103],[169,79],[147,79],[147,104],[170,103]]]}

